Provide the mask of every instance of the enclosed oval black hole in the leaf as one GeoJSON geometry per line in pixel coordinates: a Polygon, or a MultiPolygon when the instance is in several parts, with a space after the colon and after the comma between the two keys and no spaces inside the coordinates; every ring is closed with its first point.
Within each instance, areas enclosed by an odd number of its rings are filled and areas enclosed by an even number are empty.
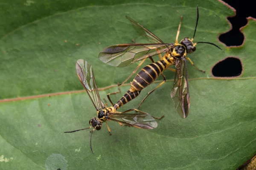
{"type": "Polygon", "coordinates": [[[242,73],[242,69],[240,59],[227,57],[213,66],[212,75],[215,77],[236,77],[242,73]]]}

